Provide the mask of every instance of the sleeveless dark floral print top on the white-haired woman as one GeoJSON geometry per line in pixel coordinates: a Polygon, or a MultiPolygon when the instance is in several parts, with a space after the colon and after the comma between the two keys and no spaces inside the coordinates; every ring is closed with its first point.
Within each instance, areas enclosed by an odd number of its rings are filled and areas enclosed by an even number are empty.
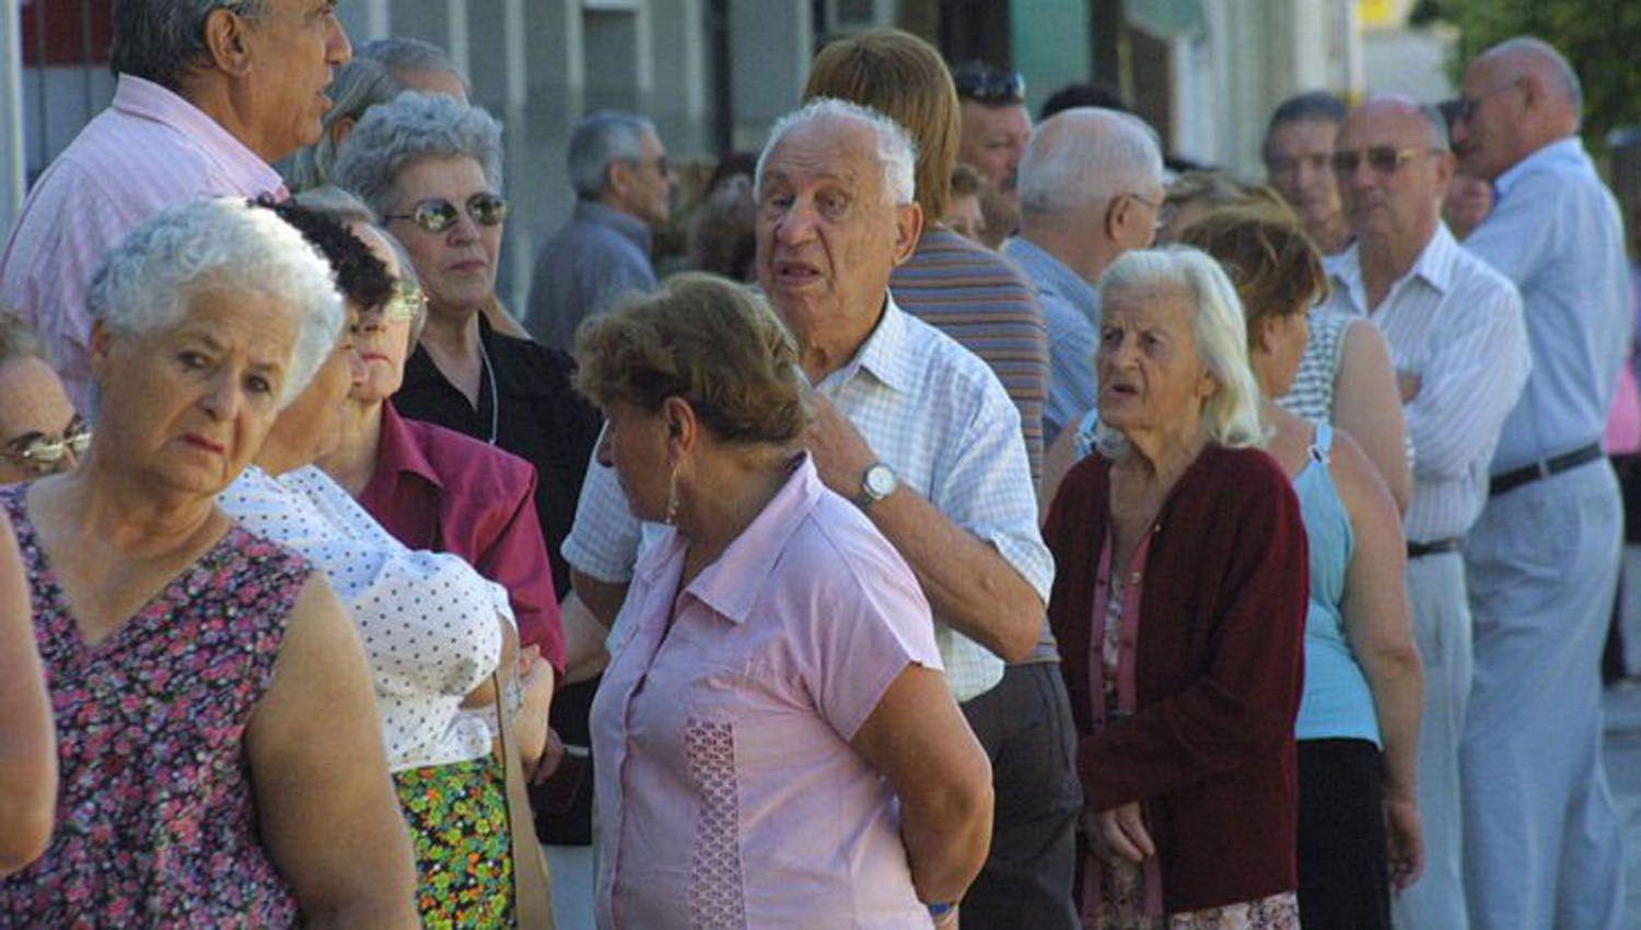
{"type": "Polygon", "coordinates": [[[46,855],[0,881],[0,925],[294,927],[295,899],[256,835],[245,728],[309,566],[233,527],[89,643],[25,495],[3,489],[0,505],[51,689],[57,814],[46,855]]]}

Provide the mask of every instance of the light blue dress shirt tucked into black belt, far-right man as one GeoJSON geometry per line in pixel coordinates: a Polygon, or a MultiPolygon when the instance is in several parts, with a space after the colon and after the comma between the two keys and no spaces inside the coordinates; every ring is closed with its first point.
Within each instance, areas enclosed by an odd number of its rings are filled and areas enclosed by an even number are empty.
{"type": "Polygon", "coordinates": [[[1577,136],[1493,187],[1493,212],[1464,246],[1521,292],[1533,349],[1493,453],[1490,474],[1502,474],[1602,440],[1630,344],[1630,279],[1618,202],[1577,136]]]}

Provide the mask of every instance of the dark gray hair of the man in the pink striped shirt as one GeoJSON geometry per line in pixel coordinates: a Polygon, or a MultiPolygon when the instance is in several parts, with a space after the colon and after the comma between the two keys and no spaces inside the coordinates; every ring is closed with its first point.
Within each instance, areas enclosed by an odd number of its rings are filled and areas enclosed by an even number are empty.
{"type": "Polygon", "coordinates": [[[108,67],[171,90],[205,56],[205,20],[217,10],[266,16],[272,0],[118,0],[108,67]]]}

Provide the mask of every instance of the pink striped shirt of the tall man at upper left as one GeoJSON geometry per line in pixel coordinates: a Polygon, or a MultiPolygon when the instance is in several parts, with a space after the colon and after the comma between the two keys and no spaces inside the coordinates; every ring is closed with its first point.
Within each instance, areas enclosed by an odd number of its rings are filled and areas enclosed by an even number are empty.
{"type": "Polygon", "coordinates": [[[23,203],[0,256],[0,299],[39,335],[74,405],[92,412],[85,292],[103,254],[172,203],[282,190],[279,174],[202,110],[121,74],[113,103],[23,203]]]}

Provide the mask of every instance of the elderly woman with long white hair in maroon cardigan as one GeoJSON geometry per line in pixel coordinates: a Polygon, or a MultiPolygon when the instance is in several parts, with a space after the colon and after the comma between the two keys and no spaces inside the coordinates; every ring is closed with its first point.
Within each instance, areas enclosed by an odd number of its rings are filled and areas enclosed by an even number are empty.
{"type": "Polygon", "coordinates": [[[1098,454],[1044,528],[1081,735],[1085,927],[1298,927],[1300,507],[1242,310],[1195,249],[1106,272],[1098,454]]]}

